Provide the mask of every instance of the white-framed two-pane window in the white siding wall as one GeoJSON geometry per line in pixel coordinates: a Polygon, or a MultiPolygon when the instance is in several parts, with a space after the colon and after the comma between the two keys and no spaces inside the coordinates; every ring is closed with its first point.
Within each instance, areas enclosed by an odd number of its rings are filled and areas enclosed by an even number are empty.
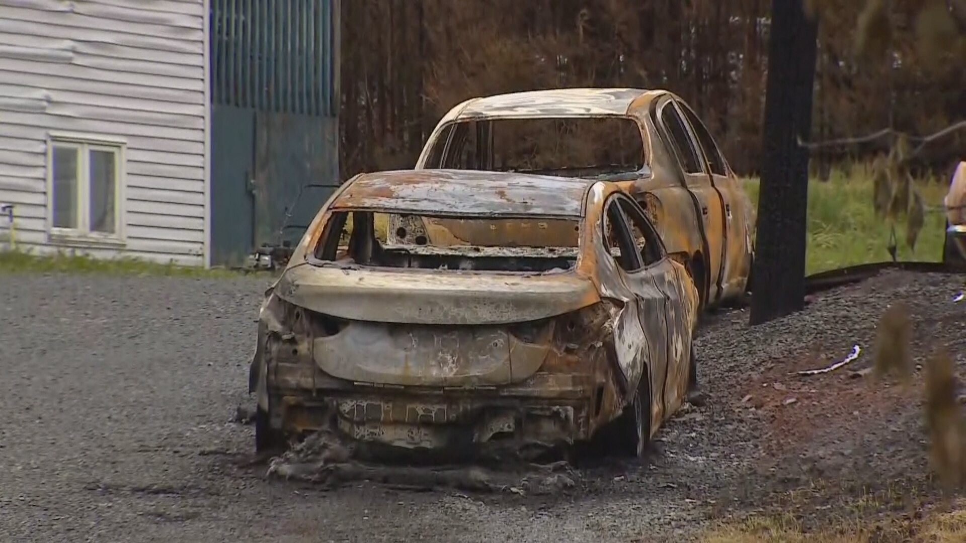
{"type": "Polygon", "coordinates": [[[51,242],[124,243],[125,142],[51,133],[47,223],[51,242]]]}

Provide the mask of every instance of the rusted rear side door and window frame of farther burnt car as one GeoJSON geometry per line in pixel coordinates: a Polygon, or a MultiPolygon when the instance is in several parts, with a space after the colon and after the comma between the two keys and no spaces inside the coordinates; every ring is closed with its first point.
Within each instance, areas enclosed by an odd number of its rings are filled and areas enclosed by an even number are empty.
{"type": "MultiPolygon", "coordinates": [[[[694,130],[691,129],[691,125],[688,123],[687,117],[677,106],[676,100],[678,100],[677,97],[670,93],[657,99],[656,106],[652,113],[652,120],[654,121],[655,126],[660,130],[662,138],[666,140],[668,144],[668,151],[673,157],[676,158],[678,175],[681,177],[683,185],[696,200],[696,207],[699,210],[698,213],[700,216],[699,223],[701,225],[702,237],[705,241],[705,249],[707,253],[705,256],[707,259],[706,271],[708,275],[705,277],[705,281],[707,282],[706,303],[714,303],[718,300],[721,300],[723,294],[722,280],[724,278],[723,274],[725,272],[725,258],[727,255],[727,222],[725,218],[725,203],[722,198],[721,191],[714,186],[707,158],[704,156],[704,151],[697,140],[696,134],[694,130]],[[676,138],[673,137],[671,130],[664,121],[664,110],[668,106],[671,107],[671,111],[677,116],[678,121],[681,123],[681,127],[685,130],[685,136],[689,140],[688,143],[692,146],[692,149],[694,149],[697,155],[697,162],[701,168],[700,172],[688,172],[684,166],[684,157],[681,156],[683,150],[678,148],[676,138]],[[699,187],[700,190],[696,190],[696,187],[699,187]],[[708,235],[708,229],[706,228],[706,223],[710,223],[712,220],[712,211],[714,211],[715,215],[721,217],[720,222],[723,232],[720,242],[718,241],[717,237],[713,241],[711,236],[708,235]],[[713,249],[715,244],[720,244],[721,246],[717,249],[713,249]],[[712,253],[717,254],[717,266],[712,259],[712,253]]],[[[701,285],[701,287],[704,288],[705,285],[701,285]]]]}

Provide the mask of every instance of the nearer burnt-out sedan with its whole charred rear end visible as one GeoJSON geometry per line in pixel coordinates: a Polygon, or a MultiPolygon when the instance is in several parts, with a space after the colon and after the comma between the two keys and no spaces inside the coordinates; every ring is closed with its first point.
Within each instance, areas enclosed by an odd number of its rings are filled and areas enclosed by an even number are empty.
{"type": "Polygon", "coordinates": [[[697,304],[685,267],[610,182],[360,174],[266,294],[256,447],[325,430],[389,450],[537,453],[608,427],[642,454],[696,383],[697,304]],[[384,242],[391,214],[430,240],[384,242]],[[433,243],[440,223],[489,234],[433,243]]]}

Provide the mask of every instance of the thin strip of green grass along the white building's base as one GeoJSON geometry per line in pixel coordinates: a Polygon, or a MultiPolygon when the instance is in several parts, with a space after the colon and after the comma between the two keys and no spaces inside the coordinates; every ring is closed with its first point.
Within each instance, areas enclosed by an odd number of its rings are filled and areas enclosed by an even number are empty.
{"type": "Polygon", "coordinates": [[[120,257],[97,259],[84,254],[62,252],[36,255],[21,250],[0,250],[0,273],[117,273],[128,275],[180,275],[196,277],[237,277],[241,272],[225,269],[159,264],[146,260],[120,257]]]}

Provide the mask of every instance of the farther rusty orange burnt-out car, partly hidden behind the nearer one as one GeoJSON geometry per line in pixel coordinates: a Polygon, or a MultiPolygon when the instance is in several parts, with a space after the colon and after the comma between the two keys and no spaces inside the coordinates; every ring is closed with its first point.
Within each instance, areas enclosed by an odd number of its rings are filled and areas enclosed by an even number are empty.
{"type": "MultiPolygon", "coordinates": [[[[740,300],[749,289],[751,202],[695,111],[667,91],[563,89],[467,100],[440,120],[415,168],[611,181],[637,200],[668,253],[685,262],[702,305],[740,300]]],[[[387,241],[487,243],[504,235],[469,231],[459,221],[428,228],[412,217],[390,218],[387,241]]]]}

